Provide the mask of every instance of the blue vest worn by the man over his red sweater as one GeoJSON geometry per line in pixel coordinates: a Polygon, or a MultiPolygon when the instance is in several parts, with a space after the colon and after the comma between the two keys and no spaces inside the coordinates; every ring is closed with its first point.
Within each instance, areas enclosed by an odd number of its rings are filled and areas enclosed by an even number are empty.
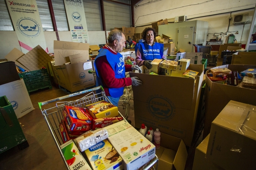
{"type": "MultiPolygon", "coordinates": [[[[120,53],[117,53],[117,55],[114,55],[108,49],[101,49],[99,51],[99,54],[95,58],[95,61],[94,61],[94,67],[95,67],[96,79],[97,79],[96,86],[101,85],[103,87],[103,83],[101,81],[101,77],[99,75],[98,68],[96,66],[97,59],[99,59],[99,57],[102,57],[102,56],[107,57],[107,60],[110,64],[110,66],[114,70],[116,78],[119,79],[119,78],[124,78],[125,77],[125,68],[124,68],[124,58],[123,58],[123,56],[120,53]]],[[[101,68],[99,68],[99,69],[101,69],[101,68]]],[[[124,94],[124,87],[120,87],[120,88],[110,88],[109,87],[109,93],[114,98],[120,97],[124,94]]]]}

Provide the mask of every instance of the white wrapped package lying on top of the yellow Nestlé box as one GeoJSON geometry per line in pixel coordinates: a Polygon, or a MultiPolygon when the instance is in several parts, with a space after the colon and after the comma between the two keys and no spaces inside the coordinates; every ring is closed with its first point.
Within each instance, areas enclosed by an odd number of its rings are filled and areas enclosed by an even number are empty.
{"type": "Polygon", "coordinates": [[[89,147],[98,144],[102,140],[108,138],[108,132],[105,128],[100,128],[96,130],[89,130],[78,136],[74,142],[76,143],[77,147],[80,151],[85,151],[89,147]]]}

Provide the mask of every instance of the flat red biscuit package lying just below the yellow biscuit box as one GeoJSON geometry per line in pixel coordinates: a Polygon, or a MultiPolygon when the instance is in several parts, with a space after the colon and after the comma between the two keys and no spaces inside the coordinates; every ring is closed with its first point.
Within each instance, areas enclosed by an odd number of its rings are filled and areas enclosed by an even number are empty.
{"type": "Polygon", "coordinates": [[[106,118],[93,119],[92,130],[95,130],[98,128],[104,128],[122,120],[123,120],[122,117],[106,117],[106,118]]]}

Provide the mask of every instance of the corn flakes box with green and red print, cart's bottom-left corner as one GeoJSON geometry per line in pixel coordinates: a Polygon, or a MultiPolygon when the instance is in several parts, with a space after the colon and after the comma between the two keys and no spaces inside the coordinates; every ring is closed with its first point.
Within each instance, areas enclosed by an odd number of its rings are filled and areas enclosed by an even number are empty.
{"type": "Polygon", "coordinates": [[[91,170],[91,167],[85,161],[73,140],[69,140],[61,145],[60,148],[70,170],[91,170]]]}

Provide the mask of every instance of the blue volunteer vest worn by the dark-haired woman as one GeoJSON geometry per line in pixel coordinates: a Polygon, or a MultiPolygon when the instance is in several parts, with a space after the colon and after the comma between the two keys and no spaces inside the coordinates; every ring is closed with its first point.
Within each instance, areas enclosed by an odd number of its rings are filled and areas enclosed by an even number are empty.
{"type": "Polygon", "coordinates": [[[135,53],[141,52],[142,60],[161,59],[163,56],[163,44],[155,42],[150,46],[146,42],[140,42],[135,45],[135,53]]]}

